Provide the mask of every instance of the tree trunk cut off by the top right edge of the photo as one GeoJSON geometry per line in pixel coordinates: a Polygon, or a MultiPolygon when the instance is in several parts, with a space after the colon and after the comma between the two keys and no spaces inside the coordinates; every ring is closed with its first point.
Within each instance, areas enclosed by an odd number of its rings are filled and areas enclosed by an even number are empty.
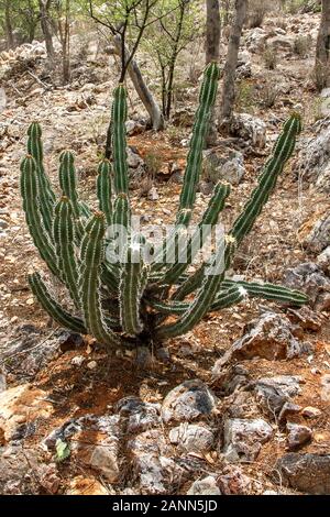
{"type": "Polygon", "coordinates": [[[330,86],[330,0],[322,0],[322,15],[318,33],[315,62],[316,86],[330,86]]]}

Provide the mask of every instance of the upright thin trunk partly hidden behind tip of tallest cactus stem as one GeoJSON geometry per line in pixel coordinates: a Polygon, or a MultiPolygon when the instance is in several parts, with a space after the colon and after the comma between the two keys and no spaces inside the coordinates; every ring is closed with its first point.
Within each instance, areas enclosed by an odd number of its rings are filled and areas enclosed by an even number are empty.
{"type": "MultiPolygon", "coordinates": [[[[206,64],[208,65],[211,62],[219,62],[220,58],[221,19],[219,0],[206,0],[206,64]]],[[[210,120],[210,128],[206,139],[207,146],[215,145],[217,136],[218,132],[213,110],[210,120]]]]}

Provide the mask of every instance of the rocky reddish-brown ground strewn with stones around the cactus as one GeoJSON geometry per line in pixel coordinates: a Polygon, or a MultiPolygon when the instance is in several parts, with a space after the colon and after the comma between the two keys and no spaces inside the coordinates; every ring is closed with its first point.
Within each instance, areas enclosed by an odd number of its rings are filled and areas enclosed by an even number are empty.
{"type": "MultiPolygon", "coordinates": [[[[317,26],[318,15],[299,14],[246,31],[238,70],[244,114],[234,139],[205,153],[196,209],[213,180],[230,180],[228,226],[280,123],[300,110],[298,152],[232,273],[296,286],[309,306],[251,300],[138,358],[54,327],[33,299],[26,273],[43,266],[19,196],[25,131],[36,119],[52,179],[59,152],[74,150],[81,197],[95,202],[113,63],[90,37],[86,65],[77,59],[73,84],[58,87],[40,45],[2,55],[0,493],[330,493],[330,92],[318,96],[310,78],[317,26]],[[274,70],[265,45],[276,51],[274,70]]],[[[197,77],[201,69],[202,54],[197,77]]],[[[163,134],[145,130],[130,91],[132,205],[158,224],[173,220],[196,106],[198,81],[185,74],[190,86],[163,134]]]]}

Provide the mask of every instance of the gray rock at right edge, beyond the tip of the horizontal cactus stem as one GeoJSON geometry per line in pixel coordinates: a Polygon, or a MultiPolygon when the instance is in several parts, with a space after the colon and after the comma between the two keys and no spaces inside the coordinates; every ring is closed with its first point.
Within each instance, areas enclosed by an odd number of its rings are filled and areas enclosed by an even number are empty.
{"type": "Polygon", "coordinates": [[[287,270],[284,282],[289,287],[304,290],[316,310],[330,308],[330,279],[314,262],[306,262],[287,270]]]}

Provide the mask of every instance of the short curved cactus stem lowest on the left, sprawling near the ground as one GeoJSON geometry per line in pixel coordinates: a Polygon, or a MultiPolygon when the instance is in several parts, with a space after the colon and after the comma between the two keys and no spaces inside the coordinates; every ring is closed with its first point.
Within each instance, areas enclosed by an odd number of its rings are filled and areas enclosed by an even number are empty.
{"type": "Polygon", "coordinates": [[[87,333],[84,321],[80,318],[72,316],[61,307],[61,305],[51,296],[38,273],[29,275],[28,279],[32,293],[37,298],[41,306],[58,324],[80,334],[87,333]]]}

